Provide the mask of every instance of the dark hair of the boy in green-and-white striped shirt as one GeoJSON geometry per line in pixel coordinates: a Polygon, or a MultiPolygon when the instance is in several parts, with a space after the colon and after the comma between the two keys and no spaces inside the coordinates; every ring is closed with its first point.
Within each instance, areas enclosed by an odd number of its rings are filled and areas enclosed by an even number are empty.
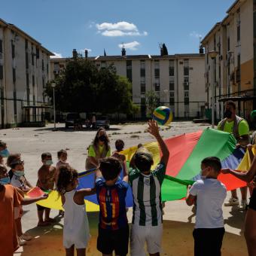
{"type": "Polygon", "coordinates": [[[153,163],[153,156],[151,152],[145,148],[139,148],[134,156],[134,163],[141,172],[148,172],[151,170],[153,163]]]}

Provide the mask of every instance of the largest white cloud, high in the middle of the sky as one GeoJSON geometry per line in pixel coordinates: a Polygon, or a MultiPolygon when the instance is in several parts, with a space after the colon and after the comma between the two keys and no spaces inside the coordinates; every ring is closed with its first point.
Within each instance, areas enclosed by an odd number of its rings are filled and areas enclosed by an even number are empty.
{"type": "Polygon", "coordinates": [[[148,32],[139,32],[139,29],[135,24],[127,23],[126,21],[96,24],[96,29],[98,29],[97,33],[111,37],[148,35],[148,32]]]}

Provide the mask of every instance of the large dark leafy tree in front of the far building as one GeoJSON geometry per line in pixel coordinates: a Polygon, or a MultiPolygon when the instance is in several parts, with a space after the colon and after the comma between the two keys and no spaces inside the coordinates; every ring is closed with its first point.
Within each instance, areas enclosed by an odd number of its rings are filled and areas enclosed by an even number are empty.
{"type": "Polygon", "coordinates": [[[45,95],[52,98],[55,83],[59,111],[130,113],[133,110],[132,85],[116,75],[114,66],[97,69],[88,59],[70,59],[59,76],[47,84],[45,95]]]}

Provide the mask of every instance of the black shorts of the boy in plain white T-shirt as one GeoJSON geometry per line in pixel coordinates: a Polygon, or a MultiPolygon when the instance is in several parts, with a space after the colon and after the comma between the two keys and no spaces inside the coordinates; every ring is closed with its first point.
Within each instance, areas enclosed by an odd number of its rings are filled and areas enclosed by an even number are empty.
{"type": "Polygon", "coordinates": [[[194,256],[221,256],[224,233],[224,227],[194,229],[194,256]]]}

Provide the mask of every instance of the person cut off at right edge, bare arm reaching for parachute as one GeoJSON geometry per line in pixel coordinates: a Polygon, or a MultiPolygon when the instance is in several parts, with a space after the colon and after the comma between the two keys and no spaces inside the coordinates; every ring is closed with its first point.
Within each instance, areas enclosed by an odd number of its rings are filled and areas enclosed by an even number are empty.
{"type": "MultiPolygon", "coordinates": [[[[251,149],[249,148],[248,151],[250,150],[251,149]]],[[[236,176],[236,178],[240,178],[242,181],[254,182],[254,189],[251,194],[245,218],[245,239],[248,248],[248,255],[254,256],[256,255],[256,155],[253,158],[248,172],[236,172],[233,169],[222,169],[221,172],[224,174],[230,173],[236,176]]]]}

